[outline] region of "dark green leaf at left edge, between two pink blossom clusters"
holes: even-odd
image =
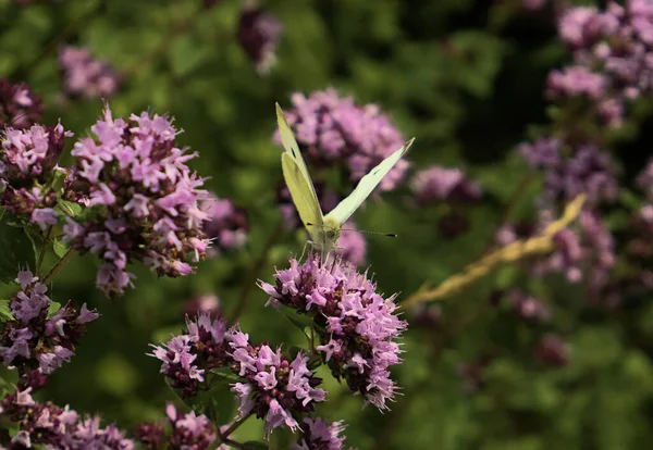
[[[9,214],[0,222],[0,282],[10,284],[22,268],[36,268],[34,242],[24,227],[9,224]]]

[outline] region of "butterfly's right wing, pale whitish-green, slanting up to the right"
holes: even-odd
[[[326,216],[324,222],[329,226],[341,227],[347,218],[354,214],[354,212],[362,204],[362,202],[372,193],[372,190],[381,183],[383,177],[387,175],[392,167],[402,159],[402,157],[408,151],[415,138],[410,139],[401,149],[396,150],[390,157],[381,161],[379,165],[372,168],[366,176],[364,176],[358,186],[354,189],[349,196],[341,201]]]

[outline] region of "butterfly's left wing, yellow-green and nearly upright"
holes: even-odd
[[[324,222],[322,209],[304,158],[301,158],[299,146],[279,103],[276,103],[276,122],[279,123],[281,141],[285,149],[281,155],[283,177],[291,191],[293,203],[295,203],[295,208],[299,213],[299,218],[315,239],[322,229]]]

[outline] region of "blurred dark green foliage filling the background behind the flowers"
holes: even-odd
[[[38,398],[101,414],[124,428],[161,417],[165,402],[175,400],[158,361],[146,353],[150,342],[182,329],[184,303],[214,292],[229,317],[256,277],[271,280],[274,265],[285,267],[291,252],[301,250],[301,232],[282,234],[262,270],[251,273],[281,222],[280,149],[271,140],[275,101],[288,108],[293,92],[335,87],[358,104],[377,103],[404,136],[417,137],[408,155],[414,170],[458,166],[481,185],[483,202],[466,211],[469,229],[454,238],[438,227],[448,207],[412,207],[406,184],[356,214],[361,229],[399,234],[369,237],[368,263],[379,290],[402,292],[401,301],[424,280],[436,284],[456,273],[492,243],[505,204],[528,172],[514,148],[546,124],[546,74],[568,60],[553,17],[510,0],[261,1],[284,26],[268,75],[255,71],[236,39],[244,2],[223,0],[210,9],[200,0],[35,3],[17,8],[0,0],[0,75],[25,80],[44,97],[44,122],[61,118],[78,137],[99,116],[100,99],[64,101],[61,95],[58,46],[88,47],[125,75],[108,99],[114,115],[148,109],[173,115],[185,130],[178,142],[200,154],[192,165],[211,177],[207,186],[219,197],[244,208],[250,224],[244,249],[207,260],[187,278],[158,279],[134,267],[136,289],[112,301],[94,287],[94,258],[74,259],[56,279],[56,301],[88,302],[102,316]],[[637,127],[629,133],[632,148],[645,148],[653,138],[637,140]],[[643,161],[632,153],[615,152],[624,154],[626,176]],[[539,189],[535,182],[520,192],[515,216],[534,215]],[[528,326],[491,305],[493,288],[513,286],[547,302],[553,321]],[[254,341],[303,343],[282,314],[263,308],[262,291],[246,295],[239,322]],[[405,363],[394,372],[403,396],[385,414],[361,410],[360,398],[323,373],[330,400],[318,413],[346,421],[349,446],[617,450],[653,440],[650,296],[615,311],[588,311],[581,289],[562,276],[529,280],[504,267],[448,299],[441,315],[428,326],[411,323]],[[565,367],[533,360],[534,342],[550,330],[570,345]],[[488,355],[489,363],[478,363]],[[460,367],[476,363],[483,383],[469,389]],[[231,393],[221,401],[227,422]],[[250,420],[235,437],[260,438],[260,421]]]

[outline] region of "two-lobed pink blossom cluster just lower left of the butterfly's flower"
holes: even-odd
[[[181,389],[183,397],[195,396],[211,370],[230,368],[239,377],[231,385],[239,402],[238,414],[263,418],[266,435],[279,426],[296,429],[294,414],[309,413],[316,402],[324,400],[324,390],[317,388],[321,379],[301,353],[291,360],[279,348],[254,346],[248,335],[236,327],[226,329],[224,320],[211,321],[208,313],[187,321],[187,329],[152,352],[163,362],[161,372],[169,384]]]

